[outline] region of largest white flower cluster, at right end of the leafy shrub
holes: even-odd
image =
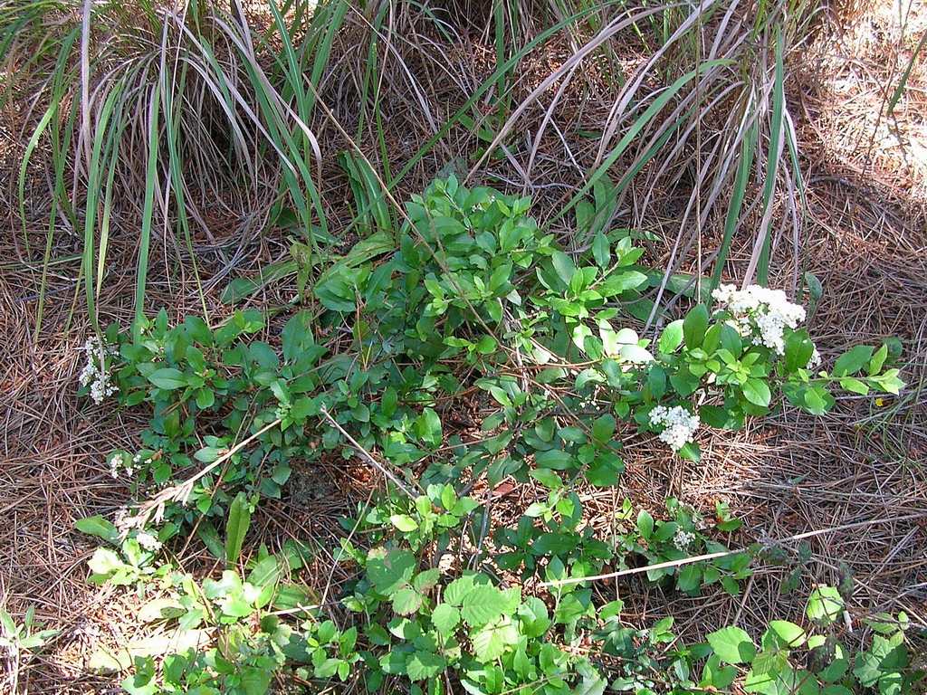
[[[741,335],[753,336],[755,345],[765,345],[780,355],[785,352],[785,327],[797,328],[805,321],[805,308],[793,304],[781,290],[751,284],[743,290],[722,284],[711,296],[730,311]]]

